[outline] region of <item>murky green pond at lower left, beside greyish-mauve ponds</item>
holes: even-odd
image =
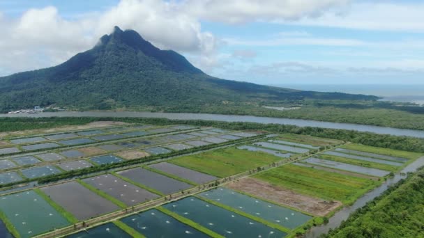
[[[70,223],[34,191],[0,198],[0,210],[21,237],[33,237]]]

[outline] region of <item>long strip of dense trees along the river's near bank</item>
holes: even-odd
[[[212,120],[168,120],[165,118],[0,118],[3,132],[20,129],[49,128],[59,125],[82,125],[87,122],[115,120],[133,123],[148,123],[155,125],[190,124],[198,126],[213,126],[224,129],[263,130],[275,133],[303,134],[324,138],[333,138],[342,141],[351,141],[363,145],[370,145],[395,150],[424,152],[424,139],[408,136],[391,136],[370,132],[356,132],[345,129],[325,129],[318,127],[296,127],[293,125],[261,124],[254,122],[218,122]],[[18,123],[17,123],[18,122]],[[60,123],[60,124],[56,124]],[[4,128],[4,129],[3,129]]]

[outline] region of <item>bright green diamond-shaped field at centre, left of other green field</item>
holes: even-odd
[[[236,148],[225,148],[179,157],[169,161],[172,164],[208,173],[217,177],[227,177],[258,166],[272,164],[282,158],[263,152],[250,152]]]

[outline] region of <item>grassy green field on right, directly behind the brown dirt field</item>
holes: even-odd
[[[253,177],[271,184],[325,200],[353,203],[379,182],[361,177],[330,173],[315,168],[288,164]]]

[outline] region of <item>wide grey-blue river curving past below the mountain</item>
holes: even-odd
[[[321,127],[330,129],[351,129],[358,132],[374,132],[378,134],[391,134],[394,136],[413,136],[424,138],[424,131],[414,129],[398,129],[392,127],[378,127],[372,125],[357,125],[339,122],[321,122],[317,120],[302,120],[289,118],[266,118],[259,116],[239,116],[207,113],[151,113],[134,111],[61,111],[53,113],[36,114],[0,114],[0,117],[130,117],[130,118],[168,118],[176,120],[220,120],[225,122],[257,122],[275,123],[282,125],[296,125],[298,127]]]

